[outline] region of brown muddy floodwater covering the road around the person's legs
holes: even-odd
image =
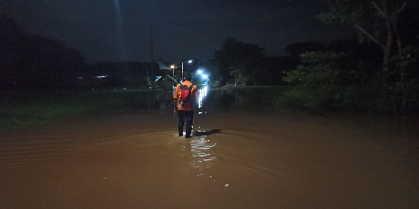
[[[415,125],[170,102],[2,138],[0,208],[418,208]]]

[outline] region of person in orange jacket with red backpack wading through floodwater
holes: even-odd
[[[190,73],[185,72],[183,75],[184,81],[176,86],[175,93],[173,94],[173,98],[177,100],[179,136],[183,136],[183,125],[186,122],[185,138],[189,138],[192,132],[194,106],[198,98],[198,89],[197,86],[190,82],[191,77]]]

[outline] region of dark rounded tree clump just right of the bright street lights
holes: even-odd
[[[221,85],[278,85],[282,77],[296,65],[293,57],[267,57],[264,49],[229,38],[215,51],[214,67]]]

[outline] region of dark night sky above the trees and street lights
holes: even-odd
[[[226,38],[286,55],[287,44],[329,42],[350,30],[315,18],[318,0],[0,0],[0,13],[29,33],[57,40],[96,61],[211,59]]]

